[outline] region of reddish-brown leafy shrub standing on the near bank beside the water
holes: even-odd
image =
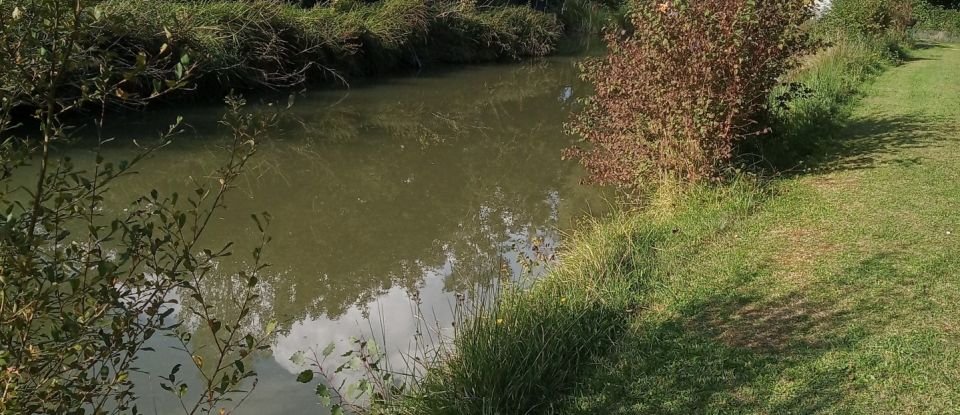
[[[637,187],[716,177],[741,138],[763,133],[771,90],[807,48],[805,0],[638,1],[630,34],[587,61],[596,88],[571,125],[592,179]]]

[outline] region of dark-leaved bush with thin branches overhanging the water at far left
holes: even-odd
[[[252,387],[255,373],[245,362],[269,340],[248,328],[262,245],[238,276],[245,287],[239,317],[227,318],[205,301],[205,281],[229,245],[207,248],[201,236],[273,120],[229,100],[223,123],[234,140],[209,182],[196,182],[182,198],[151,191],[122,213],[105,209],[111,184],[180,129],[178,120],[130,161],[107,161],[99,153],[108,141],[99,136],[107,105],[140,105],[183,88],[195,64],[173,53],[172,43],[98,48],[108,43],[98,5],[0,2],[0,413],[139,413],[132,372],[160,335],[175,338],[184,361],[203,373],[202,380],[177,379],[176,365],[157,374],[160,386],[185,413],[217,413],[233,391]],[[128,92],[137,79],[156,87],[149,95]],[[33,111],[24,115],[23,107]],[[82,165],[54,150],[73,141],[81,126],[69,121],[80,107],[100,114],[83,125],[98,141],[95,160]],[[175,297],[189,301],[179,315]],[[177,318],[203,323],[197,333],[213,339],[206,366]]]

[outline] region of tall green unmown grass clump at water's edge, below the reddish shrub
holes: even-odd
[[[623,216],[583,232],[563,265],[529,290],[502,289],[463,321],[448,355],[385,412],[550,413],[626,329],[651,247],[663,233],[635,232]]]

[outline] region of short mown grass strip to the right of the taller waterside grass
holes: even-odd
[[[659,209],[639,309],[558,413],[960,411],[960,46],[865,96],[791,177]]]

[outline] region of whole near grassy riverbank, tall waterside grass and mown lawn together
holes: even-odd
[[[920,45],[880,75],[878,46],[835,45],[798,75],[812,95],[779,124],[802,163],[595,224],[387,410],[948,409],[960,49]]]

